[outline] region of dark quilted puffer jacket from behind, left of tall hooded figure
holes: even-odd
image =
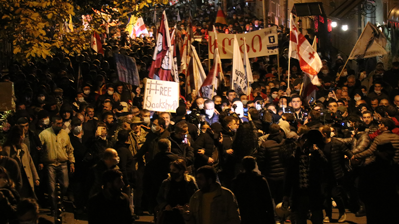
[[[281,159],[284,142],[284,134],[279,132],[270,134],[259,147],[256,159],[260,172],[267,179],[275,181],[284,179],[284,166]]]

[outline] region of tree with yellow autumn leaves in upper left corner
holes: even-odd
[[[22,64],[33,58],[45,59],[58,52],[80,54],[90,47],[91,34],[105,33],[108,23],[124,25],[128,15],[138,13],[137,9],[168,2],[0,0],[0,39],[12,42],[14,60]],[[86,27],[83,20],[88,23]]]

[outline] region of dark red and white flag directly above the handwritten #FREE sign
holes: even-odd
[[[177,70],[173,59],[174,47],[171,46],[168,20],[165,11],[157,36],[157,46],[154,50],[153,63],[151,64],[149,78],[162,81],[179,82]]]

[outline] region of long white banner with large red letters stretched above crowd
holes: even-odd
[[[221,59],[233,58],[233,40],[237,36],[241,57],[244,54],[244,38],[249,58],[278,54],[277,27],[268,27],[244,34],[217,33],[217,46]],[[214,32],[209,32],[209,59],[213,59]]]

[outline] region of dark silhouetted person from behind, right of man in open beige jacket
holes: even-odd
[[[241,224],[265,224],[274,222],[274,207],[266,178],[256,171],[255,158],[242,159],[243,173],[232,181],[234,193],[240,209]]]

